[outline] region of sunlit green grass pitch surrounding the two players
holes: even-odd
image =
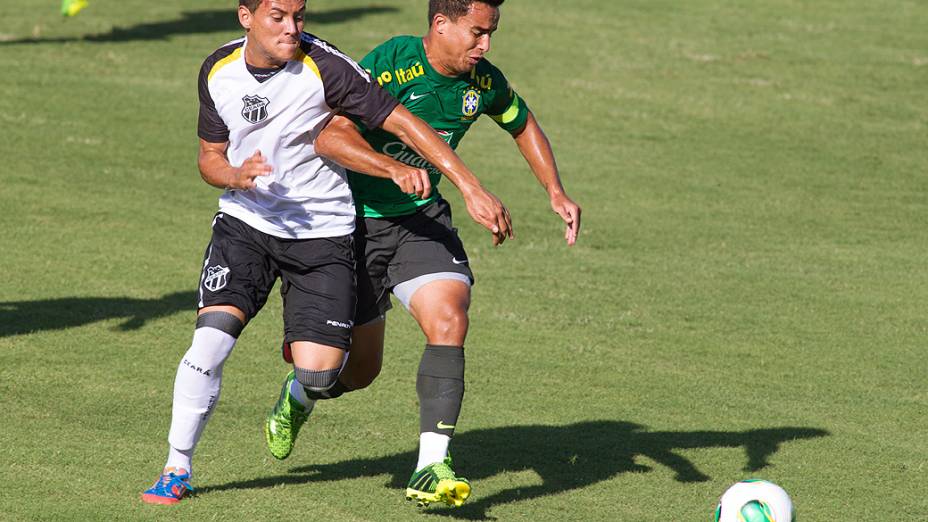
[[[47,4],[47,5],[46,5]],[[510,0],[491,60],[583,206],[563,245],[517,149],[459,149],[510,207],[478,277],[455,438],[464,507],[402,498],[423,340],[390,314],[368,390],[281,463],[260,426],[280,299],[242,335],[200,494],[143,505],[219,192],[196,77],[226,0],[0,0],[0,519],[702,521],[740,479],[800,520],[928,520],[928,7],[922,1]],[[360,58],[423,0],[310,2]]]

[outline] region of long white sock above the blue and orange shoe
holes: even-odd
[[[174,379],[174,405],[171,412],[171,431],[168,443],[173,451],[166,466],[173,459],[193,456],[203,428],[219,401],[222,384],[222,365],[232,353],[235,337],[215,328],[202,327],[193,332],[193,342],[177,367]],[[189,452],[189,455],[185,455]],[[177,456],[177,455],[180,456]],[[182,466],[183,467],[183,466]]]

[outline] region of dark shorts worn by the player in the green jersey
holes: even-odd
[[[355,229],[358,258],[358,312],[364,324],[391,308],[396,285],[427,274],[455,272],[474,282],[467,252],[451,225],[451,205],[440,199],[415,214],[389,218],[358,218]]]

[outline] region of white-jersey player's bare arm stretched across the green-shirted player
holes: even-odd
[[[427,123],[398,105],[384,121],[383,128],[412,147],[461,191],[467,212],[474,221],[493,233],[494,245],[513,237],[509,210],[499,198],[483,188],[474,173]]]

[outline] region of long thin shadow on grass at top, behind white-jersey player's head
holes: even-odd
[[[347,7],[315,12],[310,10],[306,17],[306,30],[312,32],[314,25],[334,24],[361,18],[372,14],[392,13],[395,7],[369,6]],[[165,40],[168,37],[184,34],[241,32],[235,9],[223,8],[202,11],[185,11],[176,20],[165,20],[133,25],[131,27],[114,27],[108,33],[72,37],[20,38],[0,41],[0,45],[66,43],[66,42],[130,42],[145,40]],[[86,16],[91,16],[88,13]]]

